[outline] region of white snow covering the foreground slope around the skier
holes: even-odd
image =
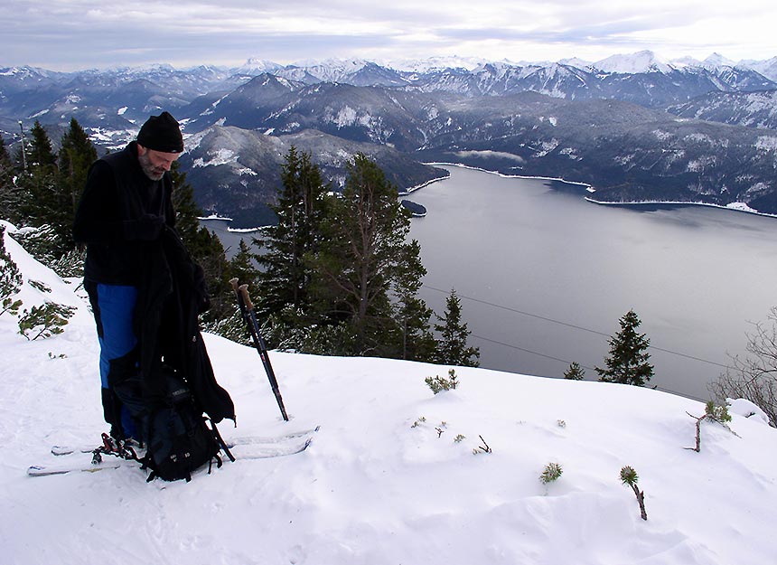
[[[424,380],[448,367],[271,352],[286,423],[256,351],[215,335],[206,344],[239,421],[222,434],[320,425],[304,453],[226,463],[189,484],[146,484],[134,467],[28,477],[27,466],[54,458],[52,445],[97,443],[105,430],[98,349],[78,281],[7,235],[5,246],[23,272],[23,307],[78,306],[45,340],[27,341],[0,316],[6,565],[775,560],[777,430],[744,400],[732,401],[730,429],[702,422],[696,453],[685,448],[695,443],[688,413],[703,405],[660,391],[456,368],[458,388],[435,395]],[[549,463],[563,475],[543,485]],[[646,522],[623,466],[639,475]]]

